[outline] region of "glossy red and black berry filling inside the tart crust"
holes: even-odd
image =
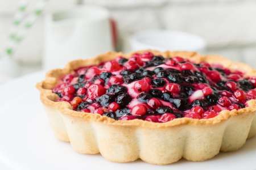
[[[146,52],[77,69],[52,91],[57,101],[69,102],[75,111],[167,122],[245,108],[246,101],[256,98],[255,87],[256,78],[241,71]]]

